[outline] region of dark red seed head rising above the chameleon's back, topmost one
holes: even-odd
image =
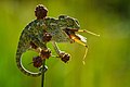
[[[37,20],[44,18],[47,16],[47,13],[48,13],[48,9],[42,4],[36,7],[35,15],[37,16]]]

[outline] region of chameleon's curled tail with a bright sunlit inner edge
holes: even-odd
[[[27,76],[32,76],[32,77],[37,77],[37,76],[40,76],[41,75],[41,72],[38,72],[38,73],[34,73],[34,72],[29,72],[27,71],[23,64],[22,64],[22,54],[23,52],[21,52],[18,49],[16,51],[16,64],[17,64],[17,67],[21,70],[21,72],[23,72],[25,75]]]

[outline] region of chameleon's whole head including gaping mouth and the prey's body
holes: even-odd
[[[57,25],[62,30],[64,30],[66,36],[68,36],[69,39],[73,40],[70,42],[76,41],[87,47],[86,37],[76,34],[76,32],[79,32],[80,28],[80,25],[76,18],[69,17],[67,15],[60,15]]]

